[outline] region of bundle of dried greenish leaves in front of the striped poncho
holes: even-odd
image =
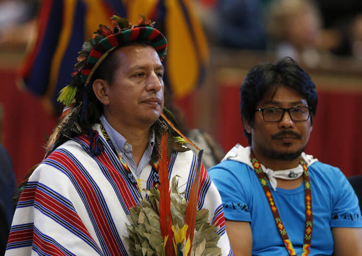
[[[142,206],[131,208],[130,216],[128,216],[128,220],[132,224],[126,225],[129,237],[125,238],[125,240],[129,245],[129,254],[131,256],[164,256],[163,239],[160,232],[158,215],[159,192],[154,188],[145,191],[150,201],[143,200]],[[178,191],[178,177],[173,177],[170,208],[173,225],[177,232],[180,231],[179,227],[184,226],[185,223],[187,203],[183,194],[184,191],[181,193]],[[194,249],[192,249],[191,253],[200,253],[201,248],[204,248],[200,256],[220,256],[221,249],[217,247],[219,236],[216,234],[218,229],[215,225],[210,224],[208,219],[209,210],[201,209],[196,212],[195,230],[192,241],[192,248]],[[175,237],[172,238],[172,240],[174,239]],[[200,245],[201,243],[202,245]],[[205,243],[205,246],[203,246],[203,243]],[[182,243],[177,245],[177,248],[183,255],[186,255],[185,252],[190,248],[190,241],[184,239]],[[191,255],[196,256],[199,254]]]

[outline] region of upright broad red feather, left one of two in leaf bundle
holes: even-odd
[[[158,212],[160,215],[160,230],[163,239],[169,235],[165,246],[166,255],[175,255],[172,238],[174,237],[172,231],[172,216],[171,216],[171,191],[169,181],[169,169],[167,164],[167,135],[161,137],[161,145],[158,156],[158,176],[160,185],[158,190],[160,192]]]

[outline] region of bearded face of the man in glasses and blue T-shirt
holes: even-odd
[[[264,107],[308,106],[307,100],[293,88],[280,86],[274,96],[275,87],[269,88],[257,104]],[[255,112],[254,127],[245,126],[252,133],[253,151],[268,159],[293,160],[307,146],[312,131],[311,118],[307,121],[291,120],[288,112],[280,122],[265,122],[261,111]]]

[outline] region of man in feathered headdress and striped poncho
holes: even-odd
[[[143,189],[160,186],[159,155],[186,200],[192,192],[198,159],[163,111],[166,39],[144,17],[112,19],[114,29],[100,25],[83,44],[61,91],[71,107],[22,188],[6,255],[129,255],[127,215],[147,198]],[[220,196],[202,165],[199,173],[197,207],[209,210],[217,245],[231,255]]]

